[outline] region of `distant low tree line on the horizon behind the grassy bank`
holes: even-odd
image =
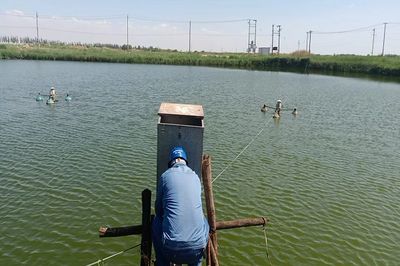
[[[132,46],[132,45],[119,45],[111,43],[83,43],[83,42],[62,42],[62,41],[51,41],[46,39],[39,39],[31,37],[18,37],[18,36],[0,36],[0,43],[13,43],[13,44],[42,44],[42,45],[52,45],[52,46],[79,46],[79,47],[99,47],[99,48],[111,48],[111,49],[122,49],[122,50],[143,50],[150,52],[159,51],[170,51],[177,52],[176,49],[160,49],[157,47],[149,46]]]

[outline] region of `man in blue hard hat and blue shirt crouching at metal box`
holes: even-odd
[[[152,226],[156,265],[201,265],[210,229],[203,214],[200,178],[187,166],[183,147],[171,150],[168,166],[158,181]]]

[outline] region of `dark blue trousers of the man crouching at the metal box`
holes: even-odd
[[[169,266],[171,262],[175,264],[188,264],[189,266],[201,266],[204,249],[185,248],[172,250],[164,246],[162,220],[157,218],[157,216],[153,220],[151,235],[156,252],[157,266]]]

